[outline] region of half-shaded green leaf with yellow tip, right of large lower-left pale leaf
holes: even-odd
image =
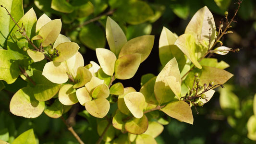
[[[53,104],[46,107],[44,112],[50,118],[54,118],[54,119],[60,118],[63,113],[63,105],[58,99],[56,99]]]

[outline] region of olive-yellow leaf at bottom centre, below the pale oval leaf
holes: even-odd
[[[133,118],[128,120],[124,125],[125,130],[132,134],[142,134],[146,132],[147,127],[148,121],[145,115],[143,115],[143,117],[140,119]]]

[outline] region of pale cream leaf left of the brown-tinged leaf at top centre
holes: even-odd
[[[96,55],[103,72],[112,76],[115,70],[115,54],[109,49],[96,48]]]

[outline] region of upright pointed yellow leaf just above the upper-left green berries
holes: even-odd
[[[40,40],[40,42],[42,42],[42,46],[47,47],[49,46],[49,44],[53,44],[59,36],[60,32],[61,19],[52,20],[49,23],[42,26],[38,33],[39,36],[43,37],[43,39]]]

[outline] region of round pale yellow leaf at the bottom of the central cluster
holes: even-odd
[[[110,110],[110,103],[105,98],[97,98],[86,102],[85,109],[96,118],[104,118]]]

